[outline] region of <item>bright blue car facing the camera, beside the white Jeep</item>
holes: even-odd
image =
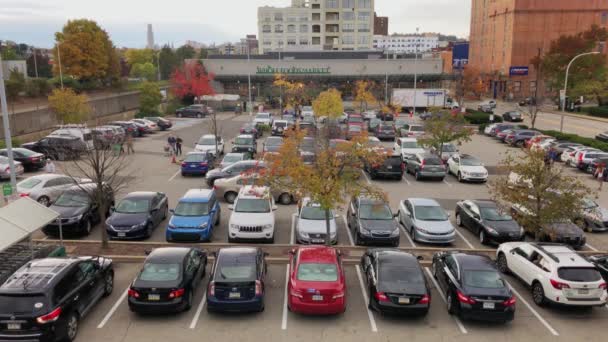
[[[192,189],[171,213],[166,231],[168,242],[211,241],[213,229],[220,224],[221,208],[214,190]]]

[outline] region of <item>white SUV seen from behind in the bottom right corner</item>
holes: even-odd
[[[496,251],[498,269],[511,272],[532,289],[541,306],[604,306],[606,282],[595,266],[560,244],[507,242]]]

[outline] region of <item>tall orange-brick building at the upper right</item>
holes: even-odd
[[[593,24],[607,27],[608,0],[473,0],[469,65],[486,75],[494,97],[534,96],[531,60],[561,35]],[[538,86],[541,94],[556,91]]]

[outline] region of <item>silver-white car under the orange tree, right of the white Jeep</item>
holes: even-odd
[[[310,198],[304,198],[296,213],[296,242],[300,244],[324,244],[327,237],[325,210]],[[329,211],[329,239],[332,245],[338,243],[336,216]]]

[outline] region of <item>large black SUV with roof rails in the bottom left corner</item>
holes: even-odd
[[[0,340],[73,341],[80,320],[113,288],[108,258],[30,261],[0,287]]]

